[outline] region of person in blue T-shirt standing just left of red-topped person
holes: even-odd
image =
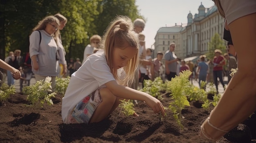
[[[201,81],[206,82],[206,77],[207,77],[207,74],[209,73],[209,66],[205,62],[206,55],[200,55],[199,58],[201,60],[201,62],[198,63],[199,87],[205,89],[205,86],[201,87]]]

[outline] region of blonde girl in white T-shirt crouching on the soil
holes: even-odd
[[[130,18],[118,16],[108,26],[101,49],[72,74],[62,100],[64,123],[93,123],[108,117],[122,99],[145,101],[164,116],[162,103],[127,87],[139,63],[139,40]]]

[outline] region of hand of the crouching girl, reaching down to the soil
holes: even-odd
[[[151,107],[154,111],[154,113],[162,113],[162,116],[164,117],[164,106],[162,103],[156,99],[155,97],[149,95],[149,98],[147,101],[145,101],[149,107]]]

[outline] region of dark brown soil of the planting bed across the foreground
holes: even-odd
[[[44,105],[39,112],[27,104],[26,95],[11,95],[0,104],[0,143],[210,143],[199,138],[199,129],[210,110],[187,106],[182,110],[184,129],[180,130],[170,110],[159,122],[146,103],[135,104],[139,117],[119,115],[117,108],[107,119],[92,124],[64,124],[61,118],[61,95],[54,105]],[[167,95],[161,100],[170,103]],[[222,137],[218,143],[235,143]],[[252,141],[252,143],[255,143]]]

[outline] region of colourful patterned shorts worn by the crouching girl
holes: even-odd
[[[95,109],[101,103],[100,89],[81,100],[70,112],[68,123],[89,123]]]

